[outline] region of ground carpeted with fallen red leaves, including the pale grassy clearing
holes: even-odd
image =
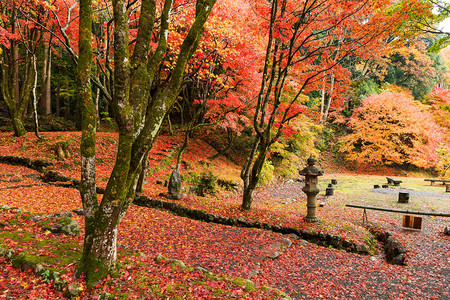
[[[19,139],[13,138],[10,133],[0,133],[0,155],[56,161],[52,147],[62,139],[72,149],[72,156],[57,162],[55,169],[66,176],[79,178],[79,156],[76,152],[79,133],[45,133],[45,136],[46,140],[39,142],[31,134]],[[99,137],[97,175],[100,186],[106,184],[111,170],[116,139],[114,134],[101,134]],[[150,155],[154,173],[146,178],[148,184],[144,193],[147,196],[163,199],[158,194],[165,188],[156,181],[167,179],[170,166],[174,164],[170,159],[171,151],[180,142],[181,138],[164,137],[158,140]],[[207,162],[214,153],[208,145],[194,141],[183,158],[186,161],[183,173],[202,172],[202,164],[198,161]],[[223,158],[214,161],[212,168],[221,178],[238,179],[239,169]],[[24,167],[0,164],[0,204],[44,214],[81,208],[77,190],[44,184],[37,175],[38,172]],[[428,193],[425,196],[411,196],[407,205],[397,203],[395,188],[390,188],[392,193],[389,194],[373,190],[374,184],[385,184],[385,177],[328,174],[320,178],[322,190],[331,178],[337,179],[338,185],[333,197],[319,195],[319,201],[325,203],[325,206],[318,207],[318,215],[323,219],[321,224],[309,225],[302,221],[306,212],[305,196],[301,192],[301,184],[294,181],[259,189],[250,212],[239,209],[239,195],[223,191],[215,197],[188,194],[178,203],[217,215],[310,228],[354,241],[363,241],[370,234],[362,226],[362,211],[346,208],[346,203],[444,213],[450,210],[450,198],[444,193],[444,188],[429,186],[423,178],[401,178],[401,187]],[[2,215],[2,218],[7,217],[6,213]],[[148,299],[158,299],[164,295],[181,298],[182,294],[197,299],[271,297],[261,289],[252,292],[250,288],[245,289],[226,280],[195,278],[201,275],[195,270],[172,270],[170,265],[155,264],[153,258],[162,253],[165,257],[180,259],[188,266],[202,267],[220,276],[248,278],[257,287],[267,285],[278,288],[296,299],[449,299],[450,239],[442,232],[445,226],[450,225],[448,218],[424,217],[423,229],[410,231],[401,228],[401,217],[397,213],[368,211],[368,219],[373,226],[391,231],[409,250],[407,266],[386,263],[381,246],[372,256],[347,253],[292,238],[292,245],[285,247],[285,237],[279,233],[205,223],[160,210],[132,206],[121,224],[118,242],[126,251],[139,251],[143,256],[122,256],[122,265],[125,266],[122,276],[109,279],[109,283],[105,282],[92,293],[101,290],[114,292],[116,289],[120,293],[129,292],[129,298],[141,296]],[[81,217],[74,218],[82,224]],[[81,238],[77,242],[81,245]],[[279,250],[281,255],[273,259],[270,256],[275,250]],[[0,294],[3,297],[13,295],[14,298],[13,293],[23,289],[28,291],[24,295],[30,295],[30,298],[55,298],[57,292],[41,278],[11,268],[5,259],[0,261],[0,267],[3,282],[3,285],[0,283]],[[71,268],[73,266],[69,270]],[[149,291],[150,286],[154,288],[153,292]],[[91,296],[89,293],[85,291],[83,295]]]

